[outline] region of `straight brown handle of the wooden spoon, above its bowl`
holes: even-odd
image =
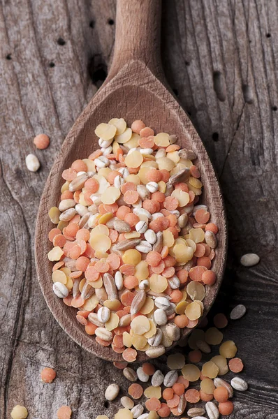
[[[117,0],[116,38],[109,78],[128,61],[161,74],[161,0]]]

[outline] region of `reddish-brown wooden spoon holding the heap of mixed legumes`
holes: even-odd
[[[52,263],[47,260],[51,249],[48,232],[53,227],[47,212],[59,203],[62,184],[61,173],[75,159],[85,159],[98,142],[94,129],[101,122],[123,117],[131,125],[142,119],[157,132],[175,133],[178,144],[193,149],[198,156],[197,164],[203,180],[203,203],[208,205],[212,221],[219,226],[219,244],[213,269],[217,282],[207,287],[203,316],[214,302],[224,273],[227,250],[226,217],[224,203],[205,147],[189,117],[173,97],[163,76],[160,59],[160,0],[118,0],[115,52],[107,80],[89,102],[68,133],[61,152],[47,179],[36,225],[36,267],[38,281],[45,301],[61,328],[82,348],[100,358],[122,361],[122,354],[96,343],[87,335],[84,326],[76,321],[76,309],[67,307],[52,291]],[[191,329],[185,328],[186,337]],[[146,360],[144,352],[138,352],[138,361]]]

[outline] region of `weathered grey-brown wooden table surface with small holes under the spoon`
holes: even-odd
[[[115,1],[3,0],[0,10],[0,418],[15,404],[31,419],[56,418],[61,404],[73,419],[113,418],[119,401],[106,408],[104,390],[117,382],[124,394],[129,384],[52,318],[36,279],[34,228],[54,158],[107,74]],[[278,418],[277,15],[277,0],[163,1],[164,70],[207,147],[228,213],[226,276],[212,311],[247,307],[224,331],[249,383],[233,419]],[[41,132],[51,145],[35,151],[41,170],[32,173],[24,159]],[[261,263],[244,268],[249,251]],[[57,370],[51,385],[41,382],[43,366]]]

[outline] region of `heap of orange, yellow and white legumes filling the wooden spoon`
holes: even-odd
[[[53,291],[98,344],[128,362],[156,358],[203,314],[218,228],[176,135],[122,118],[95,133],[100,148],[64,170],[49,212]]]

